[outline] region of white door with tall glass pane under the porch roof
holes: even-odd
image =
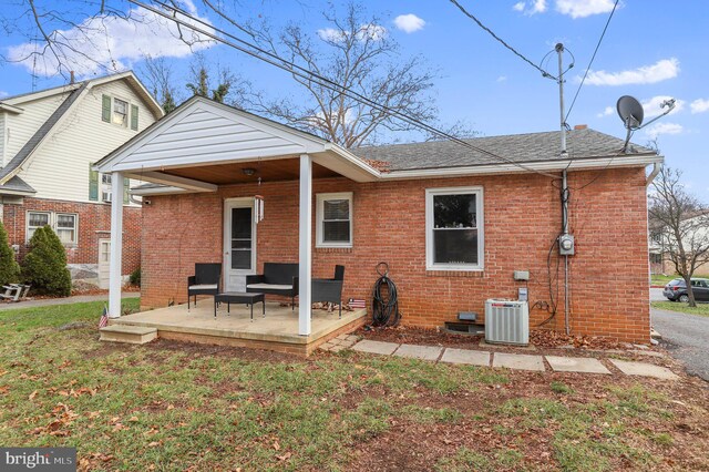
[[[224,202],[224,289],[246,291],[246,276],[256,274],[254,198]]]

